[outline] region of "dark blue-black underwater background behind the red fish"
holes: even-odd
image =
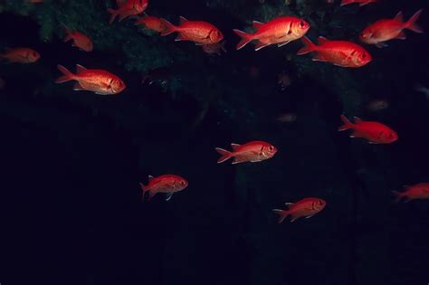
[[[183,15],[215,24],[220,55],[134,19],[109,24],[111,7],[0,1],[0,52],[41,54],[0,62],[2,285],[428,284],[429,201],[395,203],[391,192],[429,181],[427,0],[149,0],[146,13],[171,23]],[[359,43],[368,24],[421,8],[424,33],[406,31],[383,49]],[[352,41],[373,61],[312,62],[296,55],[300,40],[235,51],[233,29],[281,15],[308,21],[313,42]],[[93,51],[63,43],[62,24],[88,34]],[[55,84],[57,64],[74,72],[77,63],[127,88],[102,96]],[[338,132],[341,114],[383,122],[399,138],[349,138]],[[216,164],[215,147],[253,140],[277,154]],[[138,184],[164,174],[189,185],[170,201],[142,202]],[[305,197],[327,205],[277,223],[272,209]]]

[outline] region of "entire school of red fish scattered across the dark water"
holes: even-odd
[[[27,0],[29,3],[43,3],[43,0]],[[333,1],[327,0],[329,4]],[[342,0],[341,6],[358,4],[368,5],[377,3],[377,0]],[[190,21],[185,17],[179,17],[179,24],[171,24],[166,19],[153,15],[143,14],[148,9],[148,0],[117,0],[117,9],[108,9],[110,14],[109,23],[112,24],[118,17],[119,22],[126,18],[136,20],[135,24],[142,26],[144,29],[159,33],[161,36],[167,36],[171,33],[177,33],[176,41],[187,41],[195,43],[202,47],[203,51],[208,54],[221,54],[226,52],[224,48],[224,34],[214,25],[204,21]],[[46,4],[48,5],[48,4]],[[415,33],[423,33],[416,21],[422,9],[415,12],[407,21],[404,22],[402,12],[396,14],[392,19],[380,19],[374,24],[370,24],[359,34],[359,40],[366,44],[375,44],[378,48],[386,47],[386,42],[393,39],[405,40],[405,30]],[[80,31],[69,29],[63,24],[65,37],[64,42],[71,41],[71,45],[79,48],[83,52],[92,52],[93,43],[91,38]],[[319,36],[318,43],[315,44],[305,36],[310,30],[309,22],[294,16],[280,16],[261,23],[253,21],[253,33],[245,33],[241,30],[234,29],[240,37],[236,50],[242,49],[248,43],[254,43],[254,50],[259,51],[264,47],[276,44],[281,47],[292,41],[300,40],[303,47],[297,52],[297,55],[313,53],[312,61],[329,62],[344,68],[361,68],[373,60],[371,54],[358,43],[349,41],[328,40]],[[41,55],[31,48],[17,47],[6,49],[0,54],[0,60],[15,63],[33,63],[40,60]],[[87,90],[100,95],[119,94],[126,89],[126,84],[116,75],[109,71],[86,69],[83,66],[76,65],[76,73],[67,70],[61,64],[58,69],[62,76],[56,83],[66,81],[75,81],[73,90]],[[279,81],[282,86],[291,83],[287,74],[281,74]],[[367,109],[380,110],[386,109],[388,102],[386,100],[373,100]],[[281,122],[293,122],[296,119],[295,114],[285,113],[277,117]],[[395,130],[376,121],[365,121],[354,118],[354,123],[350,122],[346,116],[340,118],[344,125],[338,128],[339,131],[350,129],[353,132],[350,138],[365,138],[370,144],[391,144],[398,139]],[[245,162],[261,162],[270,159],[277,153],[277,148],[272,144],[264,141],[251,141],[243,145],[231,144],[232,150],[225,150],[216,147],[215,150],[221,157],[217,163],[222,163],[229,158],[233,158],[232,164]],[[184,190],[188,182],[184,177],[176,175],[149,176],[148,185],[140,183],[142,191],[142,200],[148,193],[148,199],[151,199],[157,193],[167,195],[167,200],[179,191]],[[414,199],[429,199],[429,183],[418,183],[416,185],[405,186],[405,192],[393,191],[396,195],[396,202],[405,199],[406,202]],[[286,203],[289,206],[287,210],[273,209],[272,211],[279,214],[279,223],[286,217],[291,216],[291,222],[300,217],[310,218],[322,211],[327,202],[317,197],[303,198],[296,203]]]

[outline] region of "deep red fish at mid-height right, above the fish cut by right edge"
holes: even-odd
[[[355,117],[352,124],[344,115],[341,115],[344,125],[338,130],[353,129],[350,138],[367,138],[370,144],[390,144],[397,140],[396,131],[378,122],[365,121]]]

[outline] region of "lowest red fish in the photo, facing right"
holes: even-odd
[[[289,205],[289,210],[273,209],[272,212],[279,214],[279,223],[291,215],[291,222],[296,221],[300,217],[309,219],[315,214],[318,214],[326,206],[326,201],[319,198],[304,198],[297,203],[285,203]]]

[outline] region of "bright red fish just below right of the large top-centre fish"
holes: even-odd
[[[363,47],[356,43],[346,41],[329,41],[328,39],[319,36],[319,45],[311,43],[304,37],[302,43],[304,47],[298,51],[298,55],[309,52],[316,52],[313,57],[315,62],[331,62],[341,67],[358,68],[372,61],[372,56]]]

